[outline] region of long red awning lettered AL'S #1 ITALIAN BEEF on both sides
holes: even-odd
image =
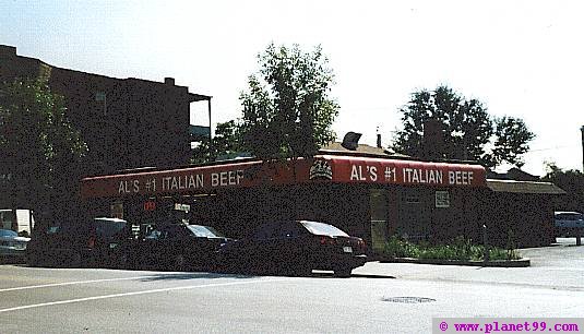
[[[309,182],[485,187],[479,165],[320,155],[276,163],[242,162],[85,178],[84,199],[204,193],[216,189]]]

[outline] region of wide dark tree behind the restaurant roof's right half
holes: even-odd
[[[508,162],[521,167],[521,155],[534,138],[523,120],[492,118],[478,99],[466,99],[448,86],[413,93],[400,112],[403,129],[392,148],[421,158],[477,160],[487,167]],[[425,141],[425,130],[430,132],[425,126],[430,124],[439,135]]]

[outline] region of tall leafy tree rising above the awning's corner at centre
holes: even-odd
[[[320,47],[267,46],[260,70],[249,76],[240,100],[242,147],[260,158],[312,156],[335,139],[338,105],[329,97],[333,72]]]

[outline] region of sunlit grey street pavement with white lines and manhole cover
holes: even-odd
[[[584,247],[532,267],[370,262],[350,278],[0,266],[2,333],[430,333],[432,318],[582,317]]]

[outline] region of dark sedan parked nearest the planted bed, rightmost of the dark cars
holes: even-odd
[[[365,241],[335,226],[309,220],[269,223],[219,250],[228,271],[309,275],[312,270],[350,276],[367,261]]]

